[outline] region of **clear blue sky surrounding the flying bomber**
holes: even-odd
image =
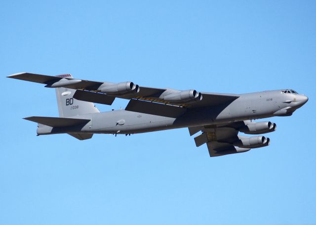
[[[0,2],[1,225],[315,225],[315,1]],[[310,97],[271,145],[209,158],[187,129],[36,136],[54,90],[5,78]],[[126,100],[102,111],[124,108]]]

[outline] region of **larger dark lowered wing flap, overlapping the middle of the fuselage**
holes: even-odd
[[[125,110],[171,118],[177,118],[186,111],[185,108],[179,106],[166,105],[136,99],[131,99],[128,102],[128,105],[126,106]]]

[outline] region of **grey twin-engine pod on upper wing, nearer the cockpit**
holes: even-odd
[[[196,90],[187,90],[187,91],[175,91],[167,90],[159,97],[168,102],[175,103],[190,103],[195,101],[202,100],[202,94]]]

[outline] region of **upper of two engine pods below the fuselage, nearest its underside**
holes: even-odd
[[[239,131],[247,134],[262,134],[276,130],[276,124],[269,121],[251,122],[239,129]]]

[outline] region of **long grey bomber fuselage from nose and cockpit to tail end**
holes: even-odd
[[[242,94],[233,102],[212,107],[188,109],[177,118],[126,110],[90,113],[72,118],[91,119],[84,126],[52,128],[39,125],[37,133],[113,133],[132,134],[165,129],[196,127],[273,116],[290,116],[306,103],[307,96],[282,90]]]

